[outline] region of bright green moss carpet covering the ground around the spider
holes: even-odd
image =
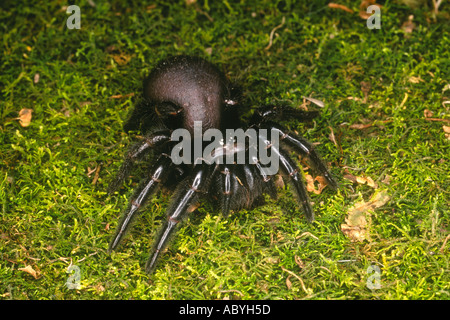
[[[448,6],[435,16],[388,1],[381,29],[370,30],[325,1],[97,2],[80,3],[80,30],[66,27],[59,1],[0,8],[2,299],[449,299]],[[313,224],[289,190],[228,219],[205,205],[148,277],[169,195],[109,256],[139,172],[119,193],[105,190],[132,141],[121,127],[143,77],[181,53],[219,64],[251,105],[324,101],[321,117],[289,126],[320,143],[341,188],[311,195]],[[22,108],[33,109],[28,127]],[[391,200],[371,211],[370,238],[350,241],[341,231],[349,208],[380,188]],[[66,286],[69,265],[81,289]],[[367,286],[370,266],[379,289]]]

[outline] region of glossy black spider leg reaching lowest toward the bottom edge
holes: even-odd
[[[208,175],[212,166],[200,165],[194,168],[193,173],[185,180],[184,184],[178,188],[175,196],[171,200],[171,205],[167,211],[168,219],[161,228],[161,233],[157,237],[155,246],[152,249],[146,264],[146,271],[152,273],[160,253],[166,247],[170,236],[173,234],[177,224],[193,211],[193,206],[199,200],[199,192],[204,189],[208,181]]]

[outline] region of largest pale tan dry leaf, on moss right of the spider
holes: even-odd
[[[355,203],[348,210],[347,218],[341,225],[341,231],[351,240],[362,242],[369,238],[368,229],[370,226],[370,211],[375,210],[389,201],[390,197],[386,190],[376,192],[372,198],[365,202]]]

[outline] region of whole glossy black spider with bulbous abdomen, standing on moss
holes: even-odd
[[[318,112],[265,105],[255,109],[249,121],[246,121],[247,124],[243,125],[241,118],[244,107],[238,101],[238,90],[214,65],[189,56],[176,56],[160,62],[144,81],[143,89],[142,101],[137,104],[124,126],[125,131],[140,130],[143,136],[141,142],[128,152],[117,177],[110,184],[109,192],[116,190],[128,176],[134,162],[143,159],[150,151],[153,151],[154,162],[125,211],[109,252],[117,248],[139,208],[160,186],[175,187],[167,210],[168,219],[161,228],[146,264],[148,273],[154,270],[156,261],[169,237],[175,232],[177,224],[195,210],[202,198],[214,201],[227,216],[230,211],[260,205],[264,194],[276,197],[277,191],[271,179],[273,172],[267,174],[267,163],[259,161],[260,158],[255,156],[258,153],[251,153],[262,150],[258,142],[263,141],[264,149],[276,156],[277,166],[285,177],[289,177],[293,192],[309,222],[313,221],[314,213],[302,173],[285,148],[306,156],[325,177],[328,185],[333,189],[337,188],[337,183],[313,146],[275,122],[310,120]],[[201,126],[196,127],[198,124]],[[201,133],[208,129],[219,129],[224,134],[226,129],[254,129],[258,137],[256,140],[255,137],[253,140],[247,137],[246,144],[236,140],[219,141],[219,148],[207,154],[211,156],[209,162],[204,155],[198,157],[194,152],[194,156],[189,157],[192,150],[183,150],[180,154],[191,159],[191,163],[175,163],[173,151],[178,141],[174,141],[172,133],[176,129],[185,129],[184,133],[195,136],[199,128]],[[270,137],[263,135],[264,130],[261,129],[270,130]],[[278,138],[280,146],[273,143],[274,138]],[[195,144],[194,139],[190,141],[193,142],[191,146]],[[205,142],[202,143],[202,150],[206,150]],[[242,154],[245,155],[245,160],[238,162],[237,157]],[[230,157],[232,162],[216,161]]]

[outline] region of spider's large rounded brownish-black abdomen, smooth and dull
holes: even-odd
[[[227,90],[227,79],[214,65],[189,56],[162,61],[144,81],[144,97],[156,106],[170,103],[178,108],[191,134],[195,121],[202,122],[203,131],[220,128]]]

